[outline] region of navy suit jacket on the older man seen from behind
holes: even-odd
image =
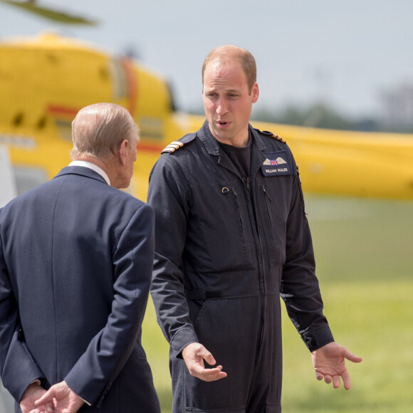
[[[92,404],[80,412],[160,411],[141,345],[154,220],[85,167],[1,209],[0,367],[17,401],[41,378],[66,380]]]

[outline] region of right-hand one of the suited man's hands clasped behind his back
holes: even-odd
[[[53,402],[53,412],[56,413],[76,413],[84,403],[64,381],[53,385],[35,404],[41,406],[49,402]]]

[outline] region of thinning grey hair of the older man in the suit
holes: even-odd
[[[88,155],[103,159],[114,154],[125,139],[139,142],[138,133],[132,116],[122,106],[115,103],[85,106],[72,122],[70,157]]]

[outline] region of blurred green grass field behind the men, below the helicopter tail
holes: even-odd
[[[318,382],[284,311],[283,412],[412,412],[413,202],[305,199],[325,315],[335,340],[364,360],[348,365],[348,392]],[[151,302],[143,341],[162,413],[170,412],[168,346]]]

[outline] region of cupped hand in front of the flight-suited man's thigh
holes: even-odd
[[[189,374],[205,382],[214,382],[226,377],[226,372],[222,371],[222,366],[206,369],[204,360],[211,366],[216,365],[216,361],[211,353],[200,343],[191,343],[182,350],[182,357],[189,370]]]

